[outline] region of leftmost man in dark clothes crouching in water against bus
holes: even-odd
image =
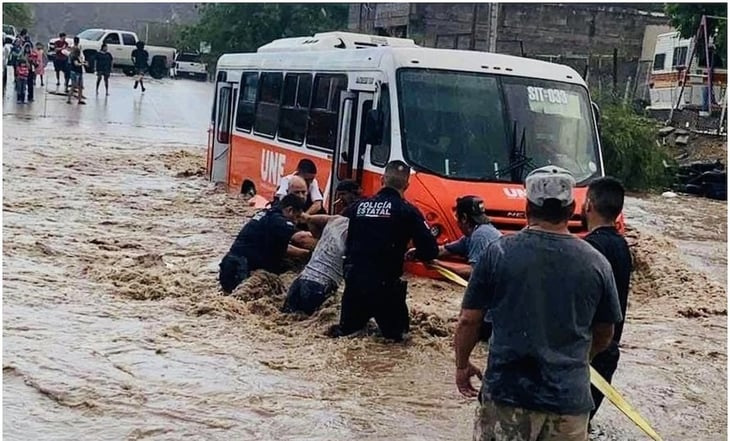
[[[220,263],[219,281],[230,294],[251,271],[280,273],[285,255],[306,257],[309,250],[291,245],[296,222],[304,211],[304,201],[285,196],[276,207],[261,210],[243,226]]]

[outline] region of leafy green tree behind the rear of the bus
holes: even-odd
[[[210,43],[208,58],[253,52],[272,40],[335,31],[347,25],[349,5],[336,3],[206,3],[200,20],[180,33],[179,46],[197,50]]]

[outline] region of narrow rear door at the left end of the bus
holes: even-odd
[[[233,105],[236,103],[238,85],[219,82],[216,86],[215,120],[213,121],[213,149],[211,153],[210,176],[212,182],[228,184],[231,126],[233,125]]]

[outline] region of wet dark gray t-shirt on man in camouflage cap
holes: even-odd
[[[564,415],[593,409],[594,323],[621,321],[611,265],[585,241],[525,229],[487,247],[464,309],[494,323],[483,387],[498,403]]]

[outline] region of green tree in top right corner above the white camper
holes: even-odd
[[[674,26],[682,38],[692,38],[697,34],[703,15],[727,17],[726,3],[667,3],[664,11],[669,16],[669,22]],[[715,41],[715,55],[723,62],[727,54],[727,20],[716,18],[707,19],[708,35]],[[700,63],[704,64],[704,43],[697,42],[697,51]]]

